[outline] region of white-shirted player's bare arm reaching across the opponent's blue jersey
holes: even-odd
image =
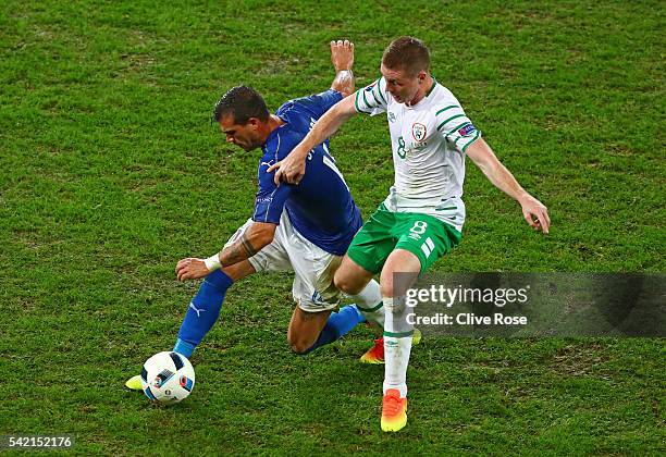
[[[280,181],[289,184],[298,184],[305,174],[305,161],[317,145],[322,144],[328,137],[333,135],[344,122],[356,114],[354,107],[354,95],[350,95],[333,106],[314,123],[310,133],[303,138],[292,152],[283,160],[271,165],[267,173],[275,172],[275,185],[280,185]]]

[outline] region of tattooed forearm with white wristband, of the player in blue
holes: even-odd
[[[208,259],[188,257],[178,261],[175,268],[178,281],[198,280],[223,267],[233,265],[249,259],[268,246],[275,236],[278,225],[254,222],[244,233],[221,252]]]

